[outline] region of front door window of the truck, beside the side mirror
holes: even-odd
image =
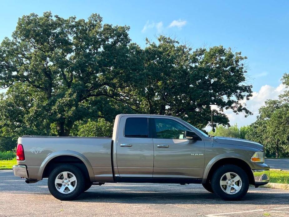
[[[185,131],[190,130],[172,119],[155,118],[157,139],[184,139]]]

